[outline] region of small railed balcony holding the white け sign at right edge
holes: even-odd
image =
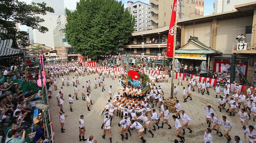
[[[237,43],[233,43],[232,53],[256,54],[256,43],[247,43],[246,50],[238,50]]]

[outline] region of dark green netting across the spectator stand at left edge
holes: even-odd
[[[0,83],[4,83],[4,81],[6,80],[6,78],[5,77],[1,77],[0,78]],[[20,86],[21,88],[19,89],[19,90],[23,90],[24,92],[24,94],[25,94],[25,92],[27,92],[30,88],[31,89],[33,89],[33,92],[37,92],[39,89],[40,89],[40,87],[39,86],[37,86],[37,84],[36,83],[31,83],[31,82],[27,82],[27,81],[22,81],[22,80],[20,80],[20,79],[9,79],[9,82],[10,81],[13,81],[13,83],[18,83],[18,86]],[[35,94],[35,93],[33,93],[33,94]]]

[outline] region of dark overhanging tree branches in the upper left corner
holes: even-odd
[[[35,15],[45,15],[46,12],[54,13],[54,10],[44,2],[27,4],[18,0],[0,0],[0,29],[5,30],[0,31],[1,40],[22,39],[27,35],[26,31],[17,30],[16,23],[27,25],[42,33],[47,32],[48,28],[40,25],[44,19]]]

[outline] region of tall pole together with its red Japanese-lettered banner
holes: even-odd
[[[170,27],[168,30],[168,40],[166,56],[172,58],[172,78],[171,78],[171,99],[173,98],[173,78],[174,78],[174,63],[175,63],[175,47],[176,47],[176,25],[177,25],[177,0],[173,1],[172,15]]]

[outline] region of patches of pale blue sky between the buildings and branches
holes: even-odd
[[[32,0],[19,0],[26,3],[30,3]],[[64,0],[64,6],[68,9],[74,10],[76,8],[76,2],[80,0]],[[137,0],[133,0],[136,2]],[[149,0],[139,0],[144,3],[149,3]],[[209,15],[213,12],[213,2],[214,0],[204,0],[204,15]],[[127,0],[122,0],[126,8]],[[27,26],[19,25],[20,30],[27,31]]]

